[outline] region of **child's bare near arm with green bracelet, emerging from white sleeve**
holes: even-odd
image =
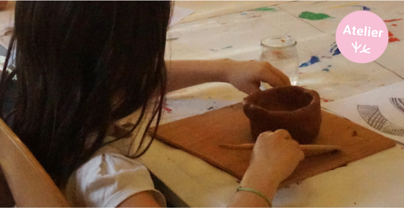
[[[264,132],[257,139],[250,166],[241,180],[240,187],[257,190],[272,202],[279,184],[293,172],[303,158],[304,153],[299,148],[299,144],[292,140],[286,130]],[[264,197],[257,193],[240,190],[233,196],[228,206],[270,206]],[[151,192],[143,191],[127,198],[118,207],[159,206]]]

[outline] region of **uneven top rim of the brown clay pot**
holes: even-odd
[[[299,108],[297,108],[297,109],[295,109],[295,110],[288,110],[288,111],[271,111],[271,110],[268,110],[268,109],[265,109],[265,108],[261,107],[260,105],[252,104],[252,103],[250,103],[250,102],[248,101],[248,98],[249,98],[249,97],[251,98],[251,96],[256,96],[256,95],[258,95],[258,94],[263,94],[263,93],[265,93],[266,90],[264,90],[264,91],[257,91],[257,92],[254,92],[254,93],[250,94],[249,96],[247,96],[246,98],[244,98],[244,99],[243,99],[243,105],[244,105],[244,106],[245,106],[245,105],[249,105],[250,108],[260,109],[260,110],[263,110],[263,111],[266,111],[266,112],[269,111],[269,112],[274,113],[274,114],[288,114],[288,113],[296,113],[296,112],[298,112],[298,111],[302,111],[302,110],[308,108],[308,107],[309,107],[310,105],[312,105],[312,104],[319,103],[320,96],[319,96],[318,92],[316,92],[315,90],[306,89],[306,88],[303,88],[303,87],[300,87],[300,86],[281,86],[281,87],[273,87],[273,88],[270,88],[270,89],[267,89],[267,90],[275,90],[275,88],[288,88],[288,87],[290,87],[290,88],[297,88],[297,89],[301,90],[303,93],[309,94],[309,95],[311,96],[311,98],[312,98],[311,101],[310,101],[310,103],[307,104],[307,105],[305,105],[305,106],[299,107]]]

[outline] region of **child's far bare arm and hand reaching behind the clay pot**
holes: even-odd
[[[167,92],[208,83],[231,83],[250,94],[260,90],[261,81],[271,86],[290,85],[289,78],[268,62],[220,60],[166,61]]]

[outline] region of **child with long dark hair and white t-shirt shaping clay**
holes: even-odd
[[[134,159],[151,142],[144,131],[135,155],[127,155],[133,141],[109,132],[135,111],[132,130],[158,125],[166,92],[206,82],[228,82],[246,93],[261,81],[290,84],[267,62],[165,61],[171,8],[170,1],[17,1],[5,64],[14,50],[15,69],[1,75],[1,118],[71,205],[165,206]],[[12,84],[13,109],[5,112]],[[238,191],[229,206],[270,205],[303,157],[285,130],[261,134],[240,184],[261,194]]]

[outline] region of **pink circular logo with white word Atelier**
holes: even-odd
[[[388,31],[376,14],[356,11],[339,22],[335,41],[341,54],[350,61],[373,62],[387,47]]]

